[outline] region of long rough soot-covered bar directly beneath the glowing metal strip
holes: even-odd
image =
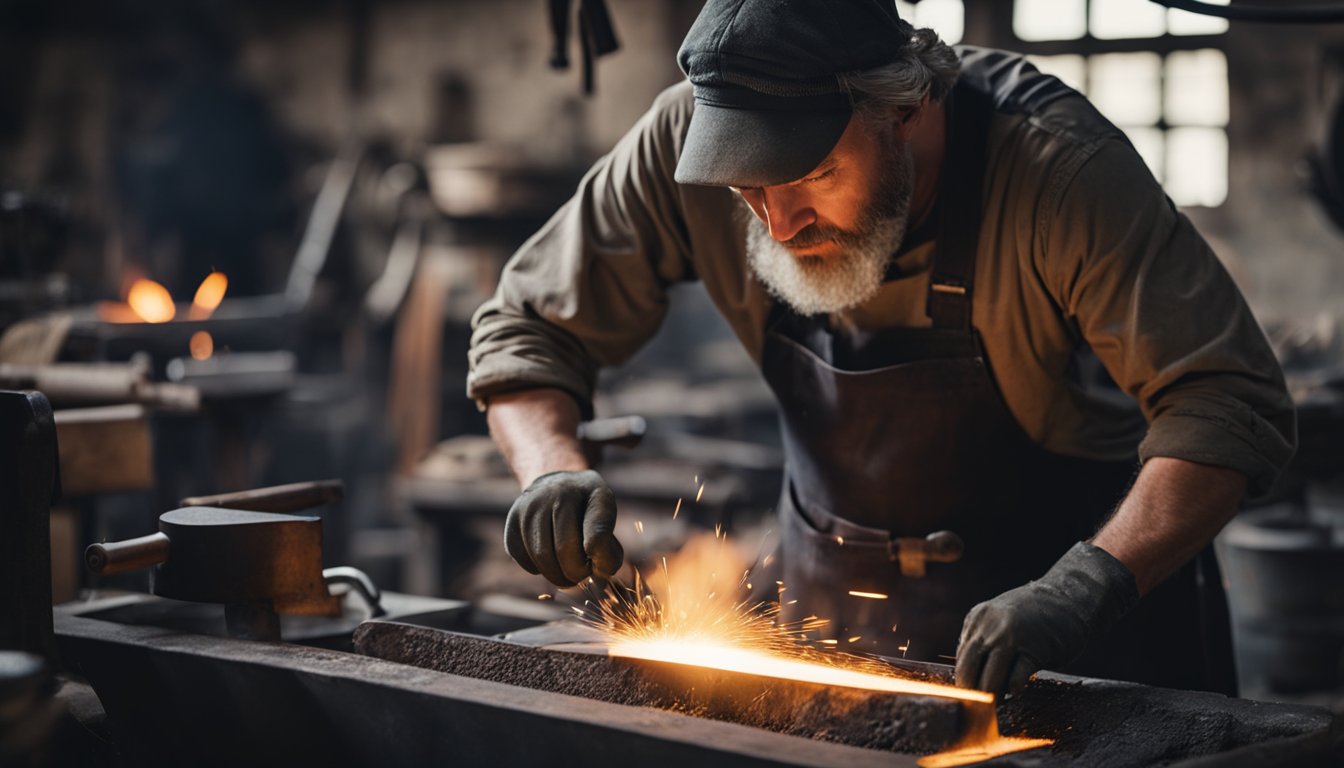
[[[454,675],[887,752],[937,752],[962,728],[961,705],[949,699],[550,651],[390,621],[362,624],[355,650]]]

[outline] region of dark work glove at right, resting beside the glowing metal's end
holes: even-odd
[[[1106,550],[1078,542],[1036,581],[970,609],[961,627],[957,685],[1017,693],[1040,668],[1083,652],[1138,603],[1138,585]]]

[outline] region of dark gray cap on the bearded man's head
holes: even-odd
[[[836,75],[895,61],[913,34],[891,0],[708,0],[677,52],[695,112],[676,180],[801,179],[853,113]]]

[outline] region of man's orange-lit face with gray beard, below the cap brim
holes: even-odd
[[[855,116],[813,172],[738,192],[755,214],[747,227],[755,276],[804,315],[836,312],[882,285],[906,235],[914,164],[890,125]]]

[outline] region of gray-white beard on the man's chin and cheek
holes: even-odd
[[[775,297],[800,315],[821,315],[857,307],[882,288],[887,266],[906,238],[914,178],[907,147],[894,148],[879,178],[879,196],[852,233],[835,239],[843,252],[832,257],[797,256],[770,237],[750,208],[747,264]]]

